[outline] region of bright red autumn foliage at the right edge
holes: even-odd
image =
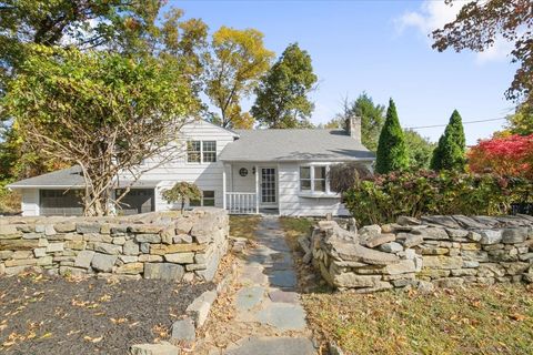
[[[467,156],[472,172],[533,179],[533,134],[481,140]]]

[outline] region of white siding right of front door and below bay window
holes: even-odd
[[[279,209],[281,215],[291,216],[321,216],[326,213],[333,215],[349,215],[340,197],[310,197],[300,194],[298,163],[278,164],[279,175]]]

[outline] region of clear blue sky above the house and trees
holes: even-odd
[[[514,65],[509,43],[487,53],[439,53],[426,33],[457,9],[444,1],[169,1],[185,18],[202,18],[211,31],[221,26],[255,28],[279,55],[298,42],[319,77],[312,94],[314,123],[329,121],[343,98],[366,91],[375,102],[393,98],[402,126],[444,124],[453,109],[463,121],[502,118],[512,112],[504,99]],[[249,102],[243,106],[248,108]],[[465,125],[474,144],[504,121]],[[444,128],[418,130],[436,141]]]

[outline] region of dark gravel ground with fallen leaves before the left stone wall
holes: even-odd
[[[127,354],[169,336],[210,283],[0,277],[0,353]]]

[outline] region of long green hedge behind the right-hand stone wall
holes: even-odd
[[[395,222],[400,215],[499,215],[511,203],[531,202],[533,182],[495,174],[421,170],[359,181],[343,195],[358,223]]]

